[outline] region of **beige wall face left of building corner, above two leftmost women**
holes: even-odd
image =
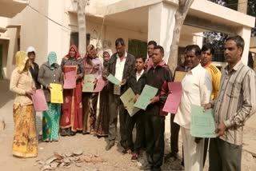
[[[22,11],[21,23],[17,23],[21,24],[21,50],[26,51],[28,46],[34,46],[37,51],[35,61],[42,64],[47,53],[49,22],[42,14],[48,15],[48,1],[31,0],[30,6],[33,6],[41,14],[29,6]]]

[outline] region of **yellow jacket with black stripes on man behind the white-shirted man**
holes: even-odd
[[[211,93],[211,99],[215,100],[218,97],[218,88],[219,84],[221,82],[222,73],[214,64],[209,64],[207,66],[204,66],[204,68],[208,71],[210,74],[210,78],[213,83],[213,92]]]

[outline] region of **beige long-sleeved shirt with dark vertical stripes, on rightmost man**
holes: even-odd
[[[220,137],[234,145],[242,145],[242,128],[255,113],[256,75],[239,61],[229,72],[222,70],[218,97],[212,101],[216,126],[224,122],[226,132]]]

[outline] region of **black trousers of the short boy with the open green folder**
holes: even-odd
[[[144,140],[144,115],[145,113],[140,110],[138,113],[135,113],[133,117],[128,115],[127,117],[127,131],[128,131],[128,147],[131,150],[134,150],[134,153],[139,153],[140,149],[143,146]],[[136,140],[133,141],[133,129],[136,124]]]

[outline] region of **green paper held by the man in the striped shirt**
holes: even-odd
[[[191,117],[190,133],[192,137],[216,137],[212,109],[203,112],[202,106],[191,105]]]

